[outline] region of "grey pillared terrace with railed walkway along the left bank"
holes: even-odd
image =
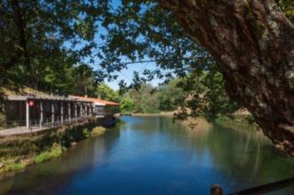
[[[8,96],[1,111],[5,122],[0,136],[28,134],[107,115],[96,113],[91,100],[47,94]]]

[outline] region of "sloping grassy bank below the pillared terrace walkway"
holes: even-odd
[[[105,133],[99,121],[67,126],[28,136],[9,136],[0,139],[0,179],[28,166],[60,157],[68,147],[90,137]]]

